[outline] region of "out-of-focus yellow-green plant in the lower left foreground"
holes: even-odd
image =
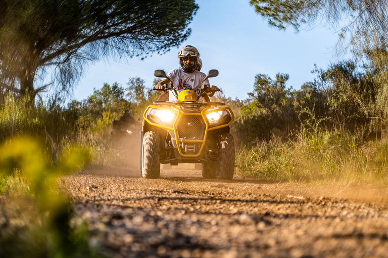
[[[28,137],[0,146],[0,192],[8,195],[0,206],[0,256],[102,257],[89,245],[88,230],[71,225],[72,207],[56,188],[58,175],[87,158],[73,148],[52,165],[41,146]]]

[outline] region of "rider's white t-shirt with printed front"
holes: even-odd
[[[167,73],[167,77],[172,81],[178,94],[183,90],[199,89],[202,84],[210,84],[208,79],[202,83],[206,75],[198,71],[187,74],[182,69],[174,69]],[[169,101],[177,101],[171,91],[169,91]]]

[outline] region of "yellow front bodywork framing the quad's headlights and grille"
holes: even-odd
[[[195,95],[195,96],[197,97],[197,95]],[[169,110],[170,112],[174,113],[176,116],[175,116],[174,121],[171,124],[163,125],[163,124],[155,123],[155,122],[150,121],[150,119],[148,119],[148,117],[147,117],[147,114],[149,113],[150,109]],[[226,110],[230,114],[230,116],[231,116],[230,121],[228,123],[226,123],[226,124],[222,124],[222,125],[218,125],[218,126],[217,125],[212,125],[212,127],[209,128],[209,121],[208,121],[208,119],[206,117],[206,114],[209,114],[209,113],[212,113],[212,112],[219,112],[219,111],[223,111],[223,110]],[[182,115],[184,115],[184,116],[202,116],[202,118],[203,118],[203,120],[205,121],[205,124],[206,124],[205,134],[204,134],[204,139],[203,140],[178,139],[176,128],[177,128],[177,124],[178,124],[178,121],[179,121],[179,117],[182,116]],[[182,112],[176,106],[171,106],[170,108],[166,108],[166,107],[161,107],[161,106],[150,105],[146,109],[146,111],[144,111],[143,117],[151,125],[154,125],[154,126],[157,126],[157,127],[160,127],[160,128],[164,128],[166,130],[174,131],[175,142],[176,142],[176,145],[178,147],[179,154],[182,157],[198,157],[199,155],[201,155],[202,150],[203,150],[203,148],[205,146],[205,142],[206,142],[208,131],[212,131],[212,130],[216,130],[216,129],[221,128],[221,127],[229,126],[233,122],[233,120],[234,120],[234,114],[233,114],[232,110],[229,107],[216,107],[216,108],[205,107],[201,112],[191,113],[191,112]],[[196,153],[196,154],[184,154],[182,152],[181,148],[180,148],[180,143],[182,143],[182,146],[183,146],[184,143],[186,143],[186,144],[189,144],[189,143],[201,143],[201,148],[200,148],[200,151],[198,153]]]

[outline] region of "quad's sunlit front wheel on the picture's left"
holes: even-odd
[[[160,143],[156,132],[147,132],[143,136],[141,153],[141,175],[146,178],[160,176]]]

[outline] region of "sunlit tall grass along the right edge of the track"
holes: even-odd
[[[387,138],[364,142],[344,131],[301,132],[285,143],[273,139],[241,146],[236,151],[236,171],[255,178],[388,186],[387,157]]]

